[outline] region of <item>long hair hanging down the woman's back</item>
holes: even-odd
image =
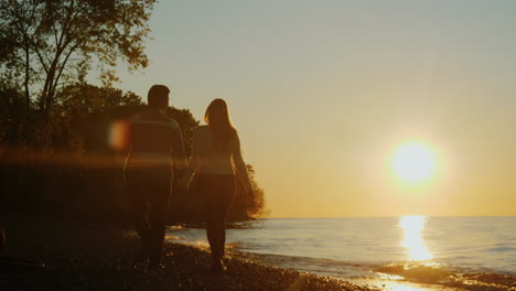
[[[212,131],[212,142],[216,150],[223,151],[227,142],[237,133],[229,118],[229,110],[223,99],[213,100],[206,108],[204,121]]]

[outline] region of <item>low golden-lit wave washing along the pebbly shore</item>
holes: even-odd
[[[513,273],[494,272],[450,267],[439,263],[390,262],[367,263],[355,261],[337,261],[331,259],[315,259],[309,257],[291,257],[271,254],[256,254],[238,250],[238,244],[229,246],[229,256],[254,260],[265,265],[294,269],[301,272],[316,273],[342,280],[372,284],[386,288],[396,283],[393,290],[399,289],[400,283],[416,283],[428,289],[407,290],[469,290],[469,291],[516,291],[516,276]],[[429,288],[434,285],[436,288]],[[390,289],[386,289],[390,290]]]

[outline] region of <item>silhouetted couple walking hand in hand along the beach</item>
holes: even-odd
[[[213,100],[204,115],[207,126],[194,130],[189,161],[178,122],[164,115],[169,93],[166,86],[152,86],[147,108],[131,118],[129,126],[125,184],[143,259],[149,258],[150,268],[160,267],[169,197],[176,195],[172,192],[175,192],[174,176],[184,187],[195,180],[212,250],[212,271],[221,273],[226,269],[223,262],[225,219],[235,193],[236,174],[244,182],[247,198],[254,197],[238,133],[230,122],[226,103]]]

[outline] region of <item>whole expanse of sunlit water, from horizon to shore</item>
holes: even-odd
[[[206,245],[204,229],[170,231],[169,239]],[[336,278],[516,290],[516,217],[271,218],[228,229],[227,245],[268,265]]]

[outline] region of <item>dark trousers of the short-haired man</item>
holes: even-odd
[[[161,261],[171,185],[127,183],[126,187],[143,256],[149,257],[151,265],[158,265]]]

